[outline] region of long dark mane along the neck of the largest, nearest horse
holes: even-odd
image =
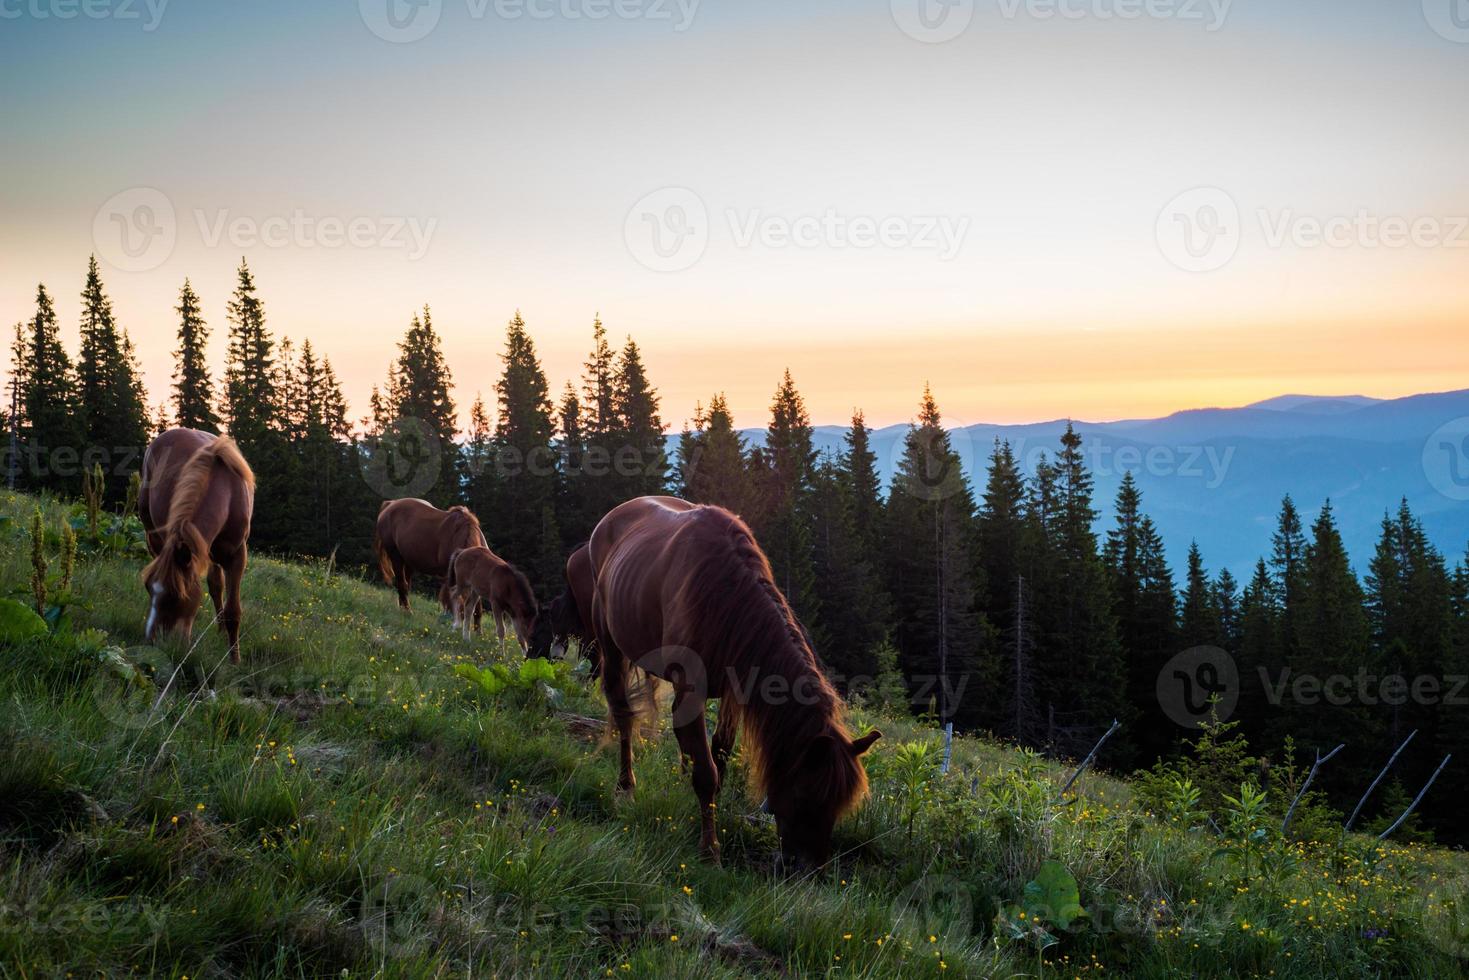
[[[795,777],[802,751],[815,739],[833,730],[848,736],[842,698],[821,670],[745,522],[721,507],[701,507],[695,513],[718,547],[704,550],[696,570],[687,576],[683,599],[705,627],[705,642],[720,645],[711,660],[732,671],[724,705],[745,732],[751,786],[768,795]],[[774,704],[759,695],[759,682],[770,674],[783,676],[793,686]],[[751,679],[755,683],[745,686]],[[795,686],[798,679],[801,683]],[[836,752],[834,758],[840,763],[820,776],[826,785],[808,789],[830,801],[836,817],[842,817],[867,795],[867,774],[849,752]]]

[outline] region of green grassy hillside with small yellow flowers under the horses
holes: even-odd
[[[35,505],[0,494],[12,598]],[[44,504],[53,580],[68,516]],[[0,654],[0,976],[1448,977],[1469,954],[1457,854],[1310,813],[1322,840],[1287,840],[1275,798],[1152,815],[1097,774],[1058,805],[1066,767],[956,739],[939,774],[931,730],[862,710],[886,738],[829,873],[773,874],[739,757],[710,867],[671,736],[616,799],[580,674],[517,683],[511,658],[491,692],[455,667],[492,642],[429,601],[259,558],[239,667],[209,613],[191,652],[137,646],[141,561],[85,538],[57,629]]]

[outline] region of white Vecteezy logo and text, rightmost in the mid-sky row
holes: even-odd
[[[1158,215],[1158,250],[1184,272],[1213,272],[1234,259],[1249,223],[1227,191],[1184,191]],[[1469,215],[1375,215],[1366,209],[1303,215],[1260,207],[1253,223],[1266,248],[1469,248]]]

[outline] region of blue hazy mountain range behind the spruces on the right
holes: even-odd
[[[1435,433],[1460,420],[1451,438]],[[1168,544],[1175,572],[1197,539],[1210,572],[1246,577],[1271,548],[1281,498],[1288,492],[1307,519],[1331,500],[1359,574],[1366,572],[1382,516],[1407,498],[1450,563],[1469,547],[1469,389],[1407,398],[1282,395],[1243,408],[1197,408],[1162,419],[1075,422],[1112,525],[1112,498],[1131,470],[1143,507]],[[1009,439],[1027,473],[1053,454],[1065,419],[1031,425],[972,425],[950,438],[975,494],[983,489],[996,439]],[[873,433],[883,485],[892,480],[906,426]],[[762,429],[745,429],[759,444]],[[839,453],[845,428],[818,426],[817,448]],[[1431,441],[1432,439],[1432,441]]]

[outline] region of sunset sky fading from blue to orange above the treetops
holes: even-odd
[[[674,429],[1469,386],[1462,0],[927,1],[0,0],[3,325],[95,251],[157,403],[245,257],[354,414],[425,303],[463,408],[599,311]]]

